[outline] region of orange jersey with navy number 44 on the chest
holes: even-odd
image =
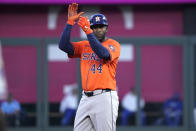
[[[71,58],[81,59],[82,88],[84,91],[96,89],[116,90],[116,67],[120,56],[120,44],[107,39],[102,45],[108,49],[111,59],[100,59],[92,50],[89,41],[72,42],[74,55]]]

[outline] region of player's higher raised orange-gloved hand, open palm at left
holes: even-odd
[[[67,23],[70,25],[74,25],[75,21],[79,19],[79,17],[83,14],[84,12],[78,13],[78,4],[72,3],[69,5],[68,8],[68,21]]]

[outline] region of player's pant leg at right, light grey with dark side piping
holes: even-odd
[[[96,131],[116,131],[118,105],[116,91],[93,96],[90,118]]]

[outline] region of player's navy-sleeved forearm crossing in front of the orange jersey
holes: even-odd
[[[87,38],[89,40],[91,48],[93,49],[93,51],[97,54],[99,58],[104,59],[104,60],[110,59],[109,51],[104,46],[102,46],[102,44],[97,40],[97,38],[95,37],[93,33],[88,34]]]

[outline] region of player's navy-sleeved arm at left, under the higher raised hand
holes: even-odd
[[[70,43],[70,34],[71,34],[72,25],[66,24],[64,31],[59,40],[59,48],[68,53],[69,55],[74,54],[73,45]]]

